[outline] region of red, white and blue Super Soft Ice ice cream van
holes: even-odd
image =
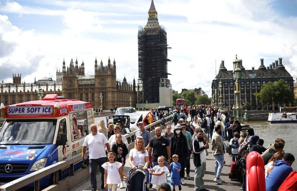
[[[0,109],[5,118],[0,130],[0,185],[81,153],[94,123],[92,103],[57,94],[8,106],[1,103]],[[82,164],[74,164],[74,169]],[[59,179],[69,171],[59,171]],[[51,184],[54,178],[51,174],[40,179],[40,186]]]

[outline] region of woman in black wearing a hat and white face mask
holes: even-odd
[[[181,126],[176,125],[173,129],[173,136],[171,137],[170,151],[171,156],[178,155],[178,163],[181,164],[181,172],[179,173],[181,178],[181,184],[186,184],[184,181],[185,176],[185,166],[187,164],[187,159],[189,158],[189,147],[187,144],[187,138],[183,135],[181,131]]]

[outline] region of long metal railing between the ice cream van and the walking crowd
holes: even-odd
[[[172,119],[173,119],[172,115],[165,117],[165,125],[170,124]],[[147,129],[148,131],[151,132],[152,135],[154,135],[154,129],[156,127],[165,128],[164,126],[162,126],[162,120],[155,121],[154,123],[151,123],[151,124],[145,126],[145,129]],[[139,130],[137,130],[137,131],[139,131]],[[133,131],[129,134],[124,135],[127,138],[128,143],[129,143],[128,150],[130,150],[131,148],[134,148],[133,142],[134,142],[134,137],[135,137],[135,134],[137,131]],[[87,151],[86,155],[88,153],[89,152]],[[74,172],[74,164],[81,160],[81,155],[82,155],[82,153],[77,154],[73,157],[67,158],[63,161],[57,162],[55,164],[52,164],[45,168],[42,168],[38,171],[32,172],[31,174],[28,174],[26,176],[23,176],[21,178],[18,178],[16,180],[8,182],[7,184],[4,184],[3,186],[0,187],[0,191],[2,191],[2,190],[5,190],[5,191],[18,190],[28,184],[31,184],[32,182],[34,182],[34,187],[35,187],[34,190],[39,191],[40,190],[39,180],[45,176],[52,174],[52,173],[54,173],[54,177],[55,177],[54,181],[53,181],[54,185],[58,186],[58,188],[56,188],[55,190],[63,190],[63,187],[65,187],[65,184],[67,184],[66,188],[69,189],[69,183],[67,181],[64,181],[64,180],[59,181],[58,180],[59,179],[59,170],[70,166],[69,176],[74,176],[75,174],[77,174],[78,171],[80,171],[80,170]],[[81,170],[85,170],[85,171],[87,171],[87,173],[89,172],[88,169],[81,169]],[[77,183],[77,180],[75,180],[75,181]],[[48,190],[50,190],[50,189],[48,189]]]

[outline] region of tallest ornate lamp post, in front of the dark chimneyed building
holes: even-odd
[[[233,78],[235,80],[235,86],[236,89],[234,90],[234,94],[235,94],[235,98],[236,98],[236,120],[240,120],[240,116],[239,116],[239,94],[240,94],[240,89],[239,89],[239,80],[241,79],[241,69],[238,67],[239,66],[240,61],[237,59],[237,54],[236,54],[236,58],[235,60],[233,60],[233,66],[234,66],[234,70],[233,70]]]

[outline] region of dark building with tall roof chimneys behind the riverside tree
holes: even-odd
[[[260,66],[258,70],[252,67],[252,70],[246,70],[242,65],[242,60],[239,60],[239,68],[241,69],[241,79],[239,82],[239,89],[241,91],[239,95],[239,104],[249,102],[251,104],[251,110],[263,110],[266,109],[266,105],[260,103],[255,97],[255,93],[260,92],[263,85],[268,82],[275,82],[283,79],[287,82],[290,89],[293,91],[294,80],[290,73],[282,65],[282,58],[272,62],[267,68],[264,66],[264,59],[260,59]],[[212,95],[215,94],[217,89],[217,103],[219,102],[219,81],[222,80],[222,98],[225,110],[231,110],[233,104],[236,102],[234,89],[235,80],[233,79],[233,70],[228,70],[224,66],[224,60],[222,60],[219,73],[216,78],[212,81]],[[272,107],[277,107],[277,103],[271,103]],[[282,104],[282,103],[280,103]]]

